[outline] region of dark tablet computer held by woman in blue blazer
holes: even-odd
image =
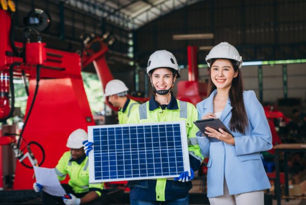
[[[211,142],[220,142],[220,140],[216,138],[212,138],[208,136],[205,131],[206,127],[213,128],[218,131],[219,128],[223,129],[225,132],[230,133],[233,137],[234,135],[230,130],[227,129],[227,127],[221,122],[219,118],[210,118],[210,119],[205,119],[205,120],[196,120],[193,122],[199,130],[211,141]]]

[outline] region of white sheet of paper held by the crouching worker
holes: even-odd
[[[65,190],[54,169],[34,166],[36,182],[43,186],[43,191],[53,196],[64,196]]]

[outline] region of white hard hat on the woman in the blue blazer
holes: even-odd
[[[216,45],[209,54],[206,56],[206,62],[208,66],[211,66],[211,60],[215,58],[226,58],[237,61],[237,65],[240,68],[242,66],[242,57],[233,45],[228,42],[221,42]]]

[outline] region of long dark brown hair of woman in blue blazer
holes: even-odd
[[[213,59],[211,61],[211,67],[214,62],[217,60]],[[245,111],[244,102],[243,102],[243,80],[241,76],[241,71],[236,63],[232,59],[226,59],[230,61],[234,67],[235,71],[238,71],[238,75],[232,81],[232,86],[228,97],[231,100],[232,109],[232,118],[230,121],[230,129],[232,131],[238,131],[245,134],[245,129],[249,127],[247,113]],[[209,69],[209,84],[208,84],[208,95],[211,95],[212,92],[216,89],[216,85],[213,83],[211,78],[211,69]]]

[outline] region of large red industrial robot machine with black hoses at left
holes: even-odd
[[[3,28],[0,33],[0,120],[3,122],[0,136],[0,189],[4,188],[2,176],[8,167],[8,162],[3,159],[10,152],[7,149],[10,146],[17,158],[13,189],[20,190],[32,189],[32,165],[44,162],[44,167],[55,167],[63,152],[68,150],[66,140],[71,131],[77,128],[87,130],[87,126],[94,125],[81,77],[81,64],[85,67],[93,62],[105,87],[113,76],[104,54],[108,51],[108,43],[114,39],[108,35],[102,38],[85,36],[81,60],[76,53],[48,49],[41,42],[39,32],[47,28],[49,17],[39,9],[30,12],[25,18],[30,25],[24,29],[25,41],[15,42],[13,15],[13,11],[0,10],[0,25]],[[29,41],[33,31],[37,34],[36,42]],[[108,43],[104,42],[106,39]],[[14,77],[29,80],[29,98],[20,133],[15,127],[4,125],[14,110]]]

